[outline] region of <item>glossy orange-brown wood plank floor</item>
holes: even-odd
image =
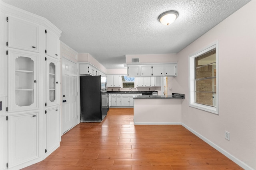
[[[24,170],[242,170],[181,125],[135,125],[133,109],[110,108],[80,123],[60,148]]]

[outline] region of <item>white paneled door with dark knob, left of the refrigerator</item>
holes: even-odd
[[[77,66],[62,58],[62,133],[78,123]]]

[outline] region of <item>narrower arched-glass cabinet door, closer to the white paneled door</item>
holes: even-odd
[[[46,106],[53,106],[59,103],[59,74],[58,61],[46,60]]]

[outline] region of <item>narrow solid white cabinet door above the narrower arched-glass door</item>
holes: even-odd
[[[46,30],[46,54],[48,56],[59,58],[60,38],[51,30]]]

